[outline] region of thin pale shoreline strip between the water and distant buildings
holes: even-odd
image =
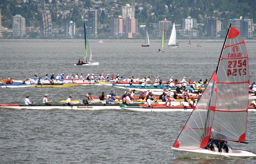
[[[88,39],[90,42],[99,42],[102,40],[103,42],[144,42],[144,40],[129,40],[129,39]],[[225,39],[196,39],[191,40],[191,42],[224,42]],[[0,42],[84,42],[83,39],[0,39]],[[159,42],[160,39],[150,40],[150,42]],[[244,40],[245,42],[256,42],[256,40]],[[166,40],[165,42],[168,42]],[[177,40],[177,42],[188,42],[188,40]]]

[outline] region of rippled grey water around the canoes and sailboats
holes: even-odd
[[[209,80],[216,69],[223,42],[205,42],[202,47],[165,48],[160,43],[141,47],[140,42],[91,42],[93,61],[99,66],[73,66],[84,53],[84,42],[0,42],[0,77],[32,78],[35,73],[120,76],[168,81]],[[246,44],[251,82],[256,80],[256,44]],[[91,92],[107,94],[109,86],[71,88],[0,88],[0,103],[23,103],[27,94],[42,102],[44,94],[54,102],[84,98]],[[124,90],[116,89],[117,95]],[[253,159],[174,160],[171,147],[188,119],[188,112],[126,112],[120,110],[0,110],[1,163],[255,163]],[[248,145],[230,143],[256,153],[256,113],[248,113]]]

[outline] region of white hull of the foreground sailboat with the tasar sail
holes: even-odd
[[[207,149],[181,149],[181,148],[172,148],[172,152],[174,154],[174,159],[177,158],[220,158],[223,156],[228,156],[232,158],[251,158],[256,157],[256,154],[253,154],[248,151],[244,150],[229,150],[228,153],[226,152],[213,152]]]

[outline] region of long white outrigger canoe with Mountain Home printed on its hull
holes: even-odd
[[[134,103],[138,106],[141,103]],[[50,103],[42,104],[35,103],[30,105],[24,104],[0,104],[0,108],[4,109],[34,109],[34,110],[50,110],[50,109],[67,109],[67,110],[108,110],[108,109],[121,109],[119,103],[116,104],[103,104],[103,103],[94,103],[94,104],[74,104],[68,105],[65,103]]]

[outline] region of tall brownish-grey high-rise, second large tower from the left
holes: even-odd
[[[42,13],[40,30],[42,36],[52,36],[52,18],[49,10],[44,10]]]

